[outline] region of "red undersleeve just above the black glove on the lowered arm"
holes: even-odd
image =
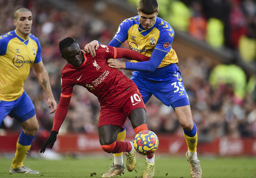
[[[68,106],[70,105],[70,99],[66,97],[60,97],[60,102],[56,108],[52,130],[59,132],[60,126],[64,122],[67,116]]]

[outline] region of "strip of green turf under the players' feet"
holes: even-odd
[[[199,157],[203,178],[255,178],[256,158],[213,158]],[[84,156],[80,158],[63,158],[61,160],[45,160],[42,158],[26,158],[24,164],[30,165],[40,174],[8,173],[12,158],[0,157],[0,178],[99,178],[105,173],[113,159],[111,156]],[[125,156],[124,156],[125,161]],[[154,178],[190,178],[189,164],[185,157],[156,156]],[[117,178],[142,178],[144,156],[137,154],[137,166],[134,171],[125,171]],[[96,173],[96,175],[94,175]],[[91,176],[92,174],[92,176]]]

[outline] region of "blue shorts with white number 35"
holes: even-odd
[[[154,95],[164,105],[173,108],[189,105],[181,72],[176,64],[157,68],[154,72],[135,71],[132,73],[131,79],[138,86],[144,103]]]

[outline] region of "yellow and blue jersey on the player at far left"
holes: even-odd
[[[34,35],[22,39],[13,30],[0,36],[0,100],[19,98],[32,64],[40,61],[41,46]]]

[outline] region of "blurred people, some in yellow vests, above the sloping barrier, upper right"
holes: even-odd
[[[137,0],[128,0],[137,7]],[[256,0],[158,0],[159,15],[174,29],[214,48],[238,51],[256,64]]]

